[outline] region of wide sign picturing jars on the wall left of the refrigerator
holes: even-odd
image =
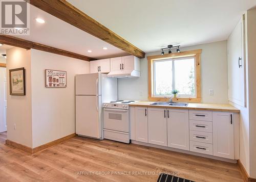
[[[46,69],[46,87],[67,87],[67,71]]]

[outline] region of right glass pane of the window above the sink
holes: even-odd
[[[195,95],[195,59],[174,61],[175,89],[179,95]]]

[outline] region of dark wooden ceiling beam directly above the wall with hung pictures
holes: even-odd
[[[72,52],[67,51],[67,50],[62,50],[62,49],[59,49],[59,48],[51,47],[51,46],[48,46],[48,45],[32,42],[32,41],[25,40],[25,39],[20,39],[20,38],[17,38],[17,37],[4,35],[4,34],[0,34],[0,43],[1,44],[12,45],[12,46],[15,46],[15,47],[20,47],[20,48],[25,48],[25,49],[33,48],[33,49],[37,49],[37,50],[46,51],[48,53],[67,56],[67,57],[76,58],[76,59],[80,59],[80,60],[84,60],[84,61],[96,60],[94,58],[90,58],[90,57],[87,57],[87,56],[72,53]]]

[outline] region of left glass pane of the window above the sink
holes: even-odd
[[[155,61],[155,95],[170,95],[172,92],[172,61]]]

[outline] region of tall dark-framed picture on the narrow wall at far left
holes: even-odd
[[[26,95],[25,69],[9,70],[10,95]]]

